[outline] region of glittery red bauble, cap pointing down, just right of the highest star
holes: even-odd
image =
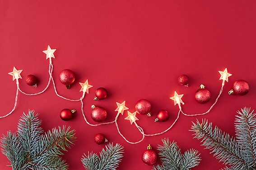
[[[67,89],[69,89],[70,85],[74,83],[75,80],[74,72],[72,72],[70,69],[62,70],[59,75],[59,79],[61,83],[65,85]]]

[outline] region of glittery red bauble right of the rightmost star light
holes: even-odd
[[[247,81],[238,80],[233,84],[233,89],[228,94],[237,94],[239,96],[246,95],[250,90],[250,85]]]

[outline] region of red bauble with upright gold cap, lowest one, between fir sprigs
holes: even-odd
[[[149,145],[147,150],[145,150],[142,154],[142,161],[144,164],[152,166],[157,161],[157,153],[152,149]]]

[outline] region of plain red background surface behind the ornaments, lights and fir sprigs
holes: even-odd
[[[64,159],[71,170],[84,170],[80,161],[88,152],[99,153],[105,145],[97,145],[95,134],[105,134],[109,143],[124,146],[120,170],[151,170],[141,161],[141,155],[150,143],[157,150],[161,139],[169,138],[180,146],[182,152],[194,148],[200,152],[202,161],[193,170],[218,170],[222,163],[209,154],[209,150],[193,139],[191,121],[207,119],[223,131],[235,136],[234,120],[237,110],[243,107],[256,108],[256,2],[255,0],[23,0],[0,1],[0,105],[1,116],[14,107],[16,83],[8,72],[13,67],[23,70],[19,79],[20,89],[26,93],[38,93],[47,85],[49,59],[47,45],[56,49],[53,62],[53,78],[59,94],[79,99],[82,92],[79,82],[86,81],[93,88],[85,95],[84,112],[90,123],[92,104],[104,107],[113,121],[116,102],[126,100],[130,112],[135,112],[135,103],[145,98],[152,104],[152,116],[137,115],[146,134],[166,130],[177,117],[178,106],[169,98],[182,97],[185,113],[206,112],[219,94],[222,81],[218,71],[226,67],[233,74],[225,82],[223,94],[205,116],[181,115],[167,133],[145,137],[139,144],[129,144],[118,134],[114,124],[92,127],[86,124],[80,102],[70,102],[56,96],[52,82],[40,95],[27,96],[19,93],[15,111],[0,119],[0,134],[17,130],[20,116],[28,110],[40,113],[42,128],[47,131],[57,126],[71,126],[76,130],[75,145],[64,152]],[[63,69],[71,69],[76,80],[70,89],[58,80]],[[33,74],[38,87],[26,85],[25,77]],[[177,77],[190,77],[189,87],[177,83]],[[245,96],[228,95],[234,81],[246,80],[250,92]],[[209,103],[195,101],[195,91],[204,84],[211,92]],[[94,92],[104,87],[108,96],[94,101]],[[70,121],[62,121],[64,108],[76,109]],[[167,122],[154,123],[157,112],[166,109],[170,113]],[[121,133],[131,142],[142,138],[135,125],[118,118]],[[11,170],[8,159],[0,154],[0,169]],[[158,159],[157,164],[161,161]]]

